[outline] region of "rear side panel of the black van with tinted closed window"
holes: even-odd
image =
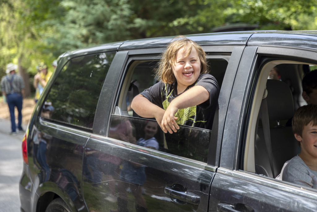
[[[55,73],[39,100],[28,144],[30,178],[35,199],[40,202],[34,208],[46,208],[56,194],[72,211],[87,210],[81,188],[82,158],[114,55],[111,52],[70,59]]]

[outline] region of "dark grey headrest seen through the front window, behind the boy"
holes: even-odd
[[[269,120],[288,120],[294,115],[294,101],[289,86],[276,79],[266,83]]]

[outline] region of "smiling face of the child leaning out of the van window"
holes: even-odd
[[[177,93],[184,92],[187,86],[196,82],[200,75],[200,59],[195,48],[191,49],[191,53],[186,56],[187,49],[181,48],[177,51],[175,64],[173,65],[173,73],[177,80]]]

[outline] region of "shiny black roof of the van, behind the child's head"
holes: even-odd
[[[146,38],[95,45],[87,48],[67,51],[62,54],[60,58],[73,58],[106,51],[162,48],[166,47],[174,37],[175,36]],[[240,31],[194,34],[186,35],[186,37],[202,46],[288,46],[314,49],[317,51],[317,31]]]

